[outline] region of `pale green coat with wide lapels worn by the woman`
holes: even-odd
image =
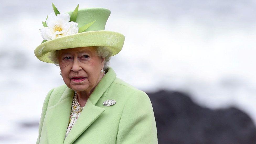
[[[157,129],[151,101],[146,93],[116,77],[109,67],[64,140],[74,90],[66,84],[47,94],[36,143],[45,144],[157,144]],[[116,104],[104,106],[105,100]]]

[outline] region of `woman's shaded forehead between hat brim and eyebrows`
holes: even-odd
[[[70,49],[62,49],[59,50],[60,54],[73,54],[73,53],[82,53],[82,52],[89,52],[94,53],[96,51],[96,47],[75,47]]]

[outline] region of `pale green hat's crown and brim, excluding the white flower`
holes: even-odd
[[[57,13],[59,12],[53,3],[52,5],[54,8],[54,12],[57,15]],[[106,46],[113,52],[111,56],[114,56],[121,51],[124,45],[125,36],[118,32],[105,30],[105,24],[110,15],[109,9],[95,7],[83,8],[78,10],[77,6],[77,8],[74,11],[70,11],[67,13],[70,15],[70,21],[74,20],[75,23],[78,24],[77,27],[79,28],[80,32],[78,31],[78,33],[65,35],[48,41],[44,40],[34,50],[35,56],[39,60],[47,63],[54,63],[49,59],[49,55],[51,54],[51,52],[55,50],[68,49],[74,47]],[[46,25],[46,22],[43,22],[43,25],[44,27],[48,27]],[[56,33],[57,32],[58,31],[56,31]]]

